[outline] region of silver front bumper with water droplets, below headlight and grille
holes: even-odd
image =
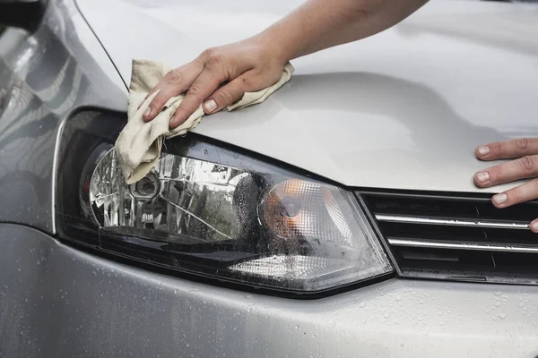
[[[3,356],[529,357],[538,287],[392,279],[312,301],[165,277],[0,225]]]

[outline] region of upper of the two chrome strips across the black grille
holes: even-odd
[[[440,226],[469,226],[469,227],[490,227],[499,229],[519,229],[528,230],[528,224],[509,223],[502,221],[482,221],[456,218],[435,218],[435,217],[406,217],[401,215],[376,214],[377,221],[388,223],[404,223],[418,225],[440,225]]]

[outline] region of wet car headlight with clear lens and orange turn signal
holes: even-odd
[[[195,134],[167,146],[158,166],[131,185],[115,151],[94,147],[79,197],[83,226],[99,232],[95,246],[195,275],[302,293],[392,271],[351,193]]]

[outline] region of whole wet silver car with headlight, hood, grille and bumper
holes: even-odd
[[[473,185],[538,135],[536,4],[430,2],[118,174],[133,59],[299,3],[0,1],[1,356],[538,355],[538,204]]]

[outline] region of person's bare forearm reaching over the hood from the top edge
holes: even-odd
[[[381,32],[428,0],[309,0],[256,35],[289,61]]]

